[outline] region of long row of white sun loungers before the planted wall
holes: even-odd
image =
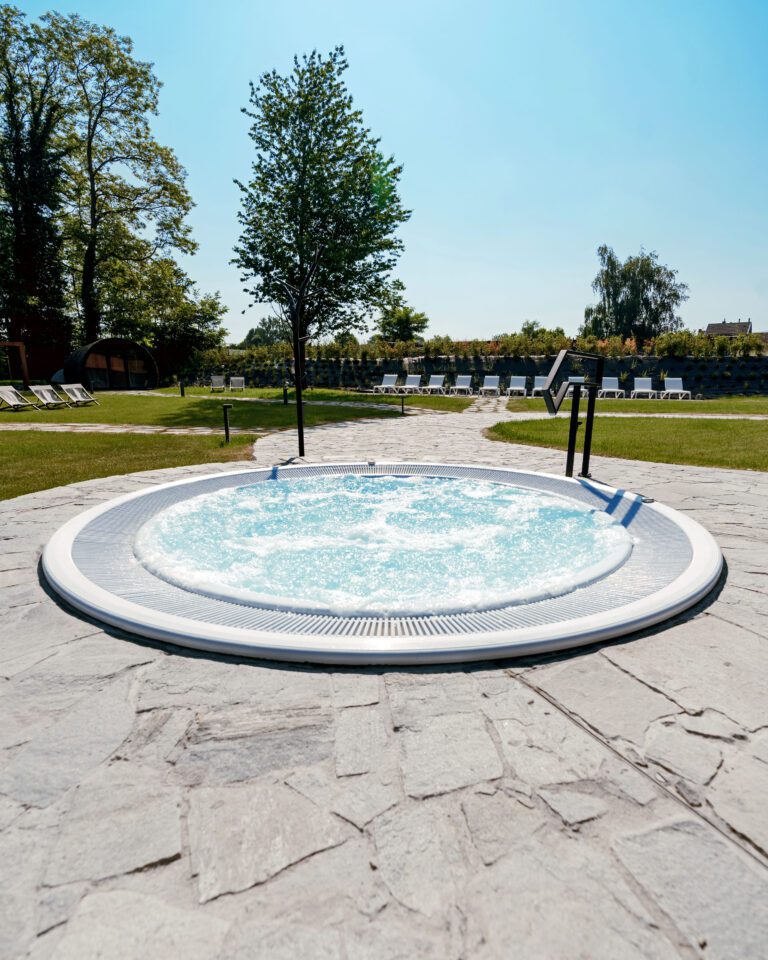
[[[381,383],[377,384],[373,388],[374,393],[391,393],[391,394],[429,394],[437,393],[445,396],[446,394],[451,394],[453,396],[470,396],[472,395],[472,377],[471,376],[459,376],[456,377],[456,383],[454,386],[446,389],[445,386],[445,377],[436,374],[429,378],[429,383],[426,386],[421,384],[421,376],[419,374],[409,375],[405,378],[405,383],[398,384],[396,373],[388,373],[385,375]],[[500,377],[496,376],[486,376],[483,380],[482,386],[477,391],[480,396],[490,395],[490,396],[500,396],[501,387],[500,387]],[[584,385],[584,377],[569,377],[569,387],[568,387],[568,396],[573,394],[573,388],[578,383]],[[538,397],[544,393],[544,384],[547,382],[546,377],[534,377],[533,387],[531,389],[531,396]],[[509,385],[504,391],[508,397],[528,396],[528,378],[527,377],[510,377]],[[626,390],[622,389],[619,386],[618,377],[603,377],[602,383],[600,384],[600,389],[597,391],[598,397],[613,397],[613,398],[624,398],[627,393]],[[634,389],[630,392],[630,397],[635,399],[637,397],[648,397],[651,400],[656,400],[661,398],[662,400],[683,400],[691,399],[691,391],[686,390],[683,387],[683,381],[680,377],[667,377],[664,380],[664,389],[663,390],[654,390],[653,381],[651,377],[635,377]]]

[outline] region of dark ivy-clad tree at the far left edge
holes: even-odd
[[[0,326],[32,347],[37,366],[35,351],[66,352],[72,334],[56,221],[68,106],[48,40],[0,6]]]

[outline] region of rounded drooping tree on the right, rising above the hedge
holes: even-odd
[[[584,311],[582,336],[634,337],[641,346],[682,327],[675,311],[688,299],[688,286],[677,279],[676,270],[659,263],[656,253],[641,249],[622,263],[604,244],[597,255],[600,270],[592,289],[600,299]]]

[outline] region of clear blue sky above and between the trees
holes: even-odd
[[[22,0],[113,26],[164,88],[159,139],[189,173],[199,253],[231,339],[265,311],[229,265],[248,81],[346,46],[356,104],[404,164],[399,276],[430,333],[528,319],[575,332],[595,250],[656,250],[687,325],[768,330],[768,0]]]

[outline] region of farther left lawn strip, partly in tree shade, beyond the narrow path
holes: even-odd
[[[223,423],[222,403],[227,397],[148,397],[132,394],[99,394],[99,405],[61,407],[57,410],[24,410],[0,412],[0,417],[18,423],[131,423],[165,427],[220,427]],[[395,416],[388,407],[370,410],[361,407],[304,407],[307,426],[360,417]],[[267,403],[232,404],[229,420],[233,427],[246,430],[279,429],[296,426],[296,407]],[[0,421],[2,422],[2,421]]]

